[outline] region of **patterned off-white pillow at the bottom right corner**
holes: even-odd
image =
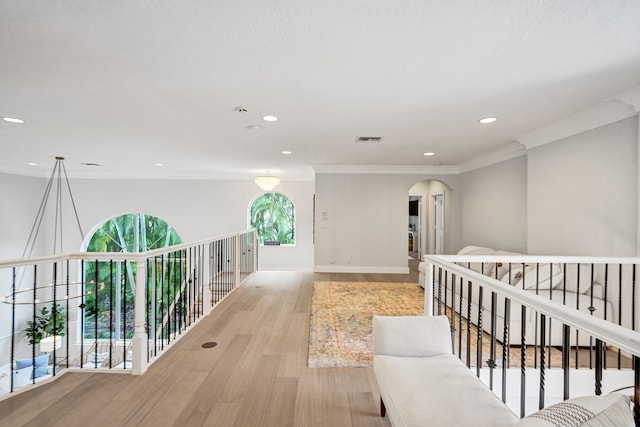
[[[584,396],[541,409],[518,422],[519,427],[633,427],[629,398],[620,393]]]

